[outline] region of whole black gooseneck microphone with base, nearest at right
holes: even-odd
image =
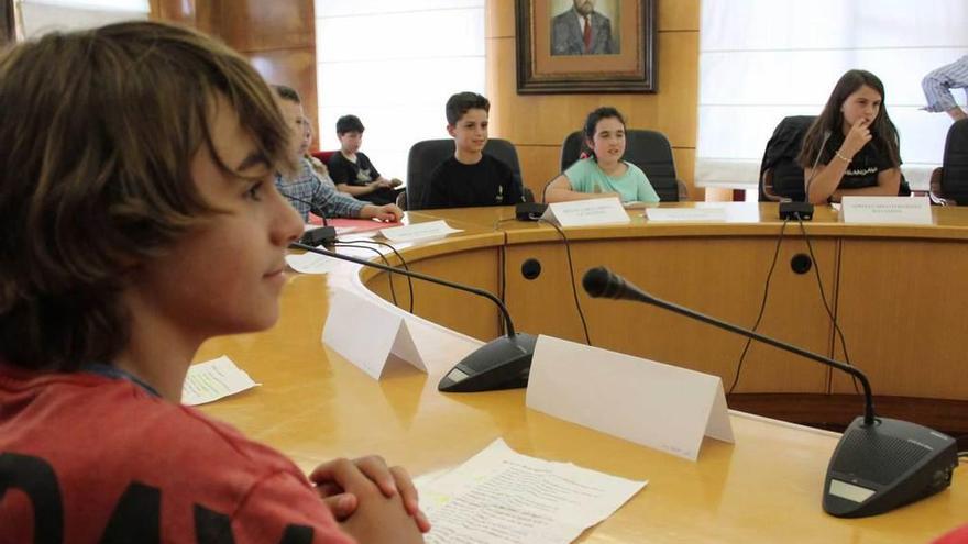
[[[845,371],[864,387],[864,417],[844,431],[824,482],[823,508],[837,518],[865,518],[921,500],[952,485],[958,466],[950,436],[906,421],[877,418],[867,376],[858,368],[716,318],[656,298],[607,268],[592,268],[582,285],[593,298],[635,300],[757,340]]]

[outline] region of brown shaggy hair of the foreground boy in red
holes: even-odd
[[[0,360],[73,370],[127,345],[121,292],[218,213],[191,178],[219,96],[272,169],[288,130],[249,63],[153,22],[47,34],[0,57]]]

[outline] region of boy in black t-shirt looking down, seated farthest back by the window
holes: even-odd
[[[386,179],[376,171],[370,157],[360,151],[363,145],[363,122],[356,115],[343,115],[337,121],[340,151],[330,157],[329,174],[337,189],[374,204],[397,201],[399,179]]]

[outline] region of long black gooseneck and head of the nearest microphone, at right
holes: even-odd
[[[689,308],[681,307],[673,302],[669,302],[667,300],[662,300],[660,298],[653,297],[646,291],[642,291],[635,285],[628,282],[622,276],[608,270],[604,266],[600,266],[596,268],[592,268],[585,273],[584,278],[582,278],[582,286],[585,288],[585,292],[588,293],[592,298],[608,298],[608,299],[623,299],[623,300],[636,300],[639,302],[646,302],[648,304],[657,306],[664,310],[669,310],[681,315],[685,315],[688,318],[692,318],[703,323],[711,324],[713,326],[718,326],[719,329],[724,329],[726,331],[757,340],[765,344],[769,344],[773,347],[783,349],[784,352],[793,353],[800,355],[801,357],[805,357],[812,360],[816,360],[817,363],[822,363],[824,365],[837,368],[838,370],[845,371],[860,381],[861,387],[864,388],[864,398],[865,398],[865,407],[864,407],[864,423],[865,425],[873,425],[877,420],[873,411],[873,395],[870,390],[870,382],[867,379],[867,376],[860,371],[860,369],[845,365],[838,360],[834,360],[829,357],[824,357],[823,355],[809,352],[806,349],[796,347],[794,345],[788,344],[785,342],[781,342],[779,340],[771,338],[770,336],[765,336],[760,333],[750,331],[748,329],[744,329],[738,325],[734,325],[732,323],[727,323],[725,321],[718,320],[711,315],[706,315],[704,313],[700,313],[695,310],[690,310]]]

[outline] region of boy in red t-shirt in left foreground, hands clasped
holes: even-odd
[[[278,318],[288,137],[253,68],[193,31],[0,56],[0,541],[422,541],[403,469],[310,482],[179,403],[206,338]]]

